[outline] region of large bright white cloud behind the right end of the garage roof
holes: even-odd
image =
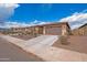
[[[87,23],[86,10],[83,12],[75,12],[70,17],[63,18],[59,22],[68,22],[72,29],[79,28],[80,25]]]

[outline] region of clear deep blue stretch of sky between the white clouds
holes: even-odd
[[[87,9],[87,4],[21,3],[9,20],[19,22],[32,22],[34,20],[55,22],[85,9]]]

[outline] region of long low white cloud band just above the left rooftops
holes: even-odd
[[[0,28],[24,28],[24,26],[41,25],[41,24],[46,24],[46,23],[48,22],[43,22],[43,21],[37,21],[37,20],[30,23],[9,21],[9,22],[4,22],[4,24],[0,25]]]

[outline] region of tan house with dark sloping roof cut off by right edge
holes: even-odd
[[[87,23],[72,31],[73,35],[87,35]]]

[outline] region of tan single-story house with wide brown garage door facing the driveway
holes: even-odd
[[[36,34],[68,35],[70,32],[70,28],[67,22],[50,23],[33,28]]]

